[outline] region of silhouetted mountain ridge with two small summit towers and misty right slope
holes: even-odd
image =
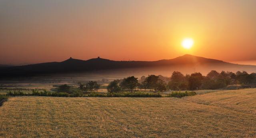
[[[186,54],[169,60],[158,60],[158,61],[114,61],[104,58],[92,58],[90,60],[78,60],[69,58],[62,62],[47,62],[40,64],[31,64],[25,66],[14,66],[0,69],[1,76],[28,76],[36,74],[56,74],[56,73],[67,73],[67,72],[95,72],[95,71],[106,71],[106,70],[134,70],[143,69],[148,70],[170,70],[176,69],[192,69],[197,71],[196,68],[202,68],[208,70],[217,70],[217,67],[232,71],[234,68],[237,70],[250,70],[256,71],[256,66],[252,65],[239,65],[224,62],[221,60],[203,58],[199,56],[192,56]],[[200,70],[198,70],[200,71]]]

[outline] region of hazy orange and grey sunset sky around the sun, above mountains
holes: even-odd
[[[256,0],[0,0],[0,64],[256,60]],[[184,49],[184,38],[194,45]]]

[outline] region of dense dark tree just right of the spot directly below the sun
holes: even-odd
[[[196,72],[190,75],[188,78],[188,88],[189,90],[198,90],[202,85],[203,76],[201,73]]]

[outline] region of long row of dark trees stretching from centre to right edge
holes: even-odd
[[[200,72],[192,74],[182,74],[174,71],[170,79],[166,79],[159,75],[142,76],[140,80],[134,76],[116,79],[110,82],[107,89],[108,92],[135,92],[137,89],[145,89],[150,91],[165,90],[214,90],[225,88],[232,84],[243,84],[254,86],[256,84],[256,73],[248,74],[246,71],[233,72],[217,72],[210,71],[206,76]]]

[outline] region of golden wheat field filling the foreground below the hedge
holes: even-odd
[[[1,138],[255,138],[256,89],[184,98],[12,97]]]

